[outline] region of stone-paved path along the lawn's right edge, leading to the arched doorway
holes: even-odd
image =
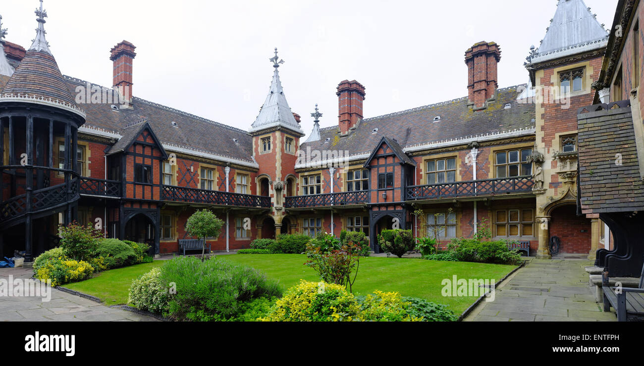
[[[493,302],[481,302],[464,320],[475,322],[616,322],[603,313],[578,259],[531,259],[497,288]]]

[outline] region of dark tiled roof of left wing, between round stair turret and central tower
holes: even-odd
[[[87,82],[83,80],[67,76],[64,78],[71,93],[75,94],[75,89],[79,86],[87,87]],[[90,84],[90,88],[93,86],[95,85]],[[176,145],[222,156],[222,158],[254,163],[252,138],[241,129],[137,97],[133,98],[131,109],[115,110],[110,104],[105,103],[87,103],[81,104],[81,107],[87,114],[85,124],[91,127],[113,131],[124,136],[129,125],[136,124],[145,118],[164,145]]]

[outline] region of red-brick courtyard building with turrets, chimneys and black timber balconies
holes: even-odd
[[[366,87],[343,80],[337,125],[320,128],[316,107],[304,142],[277,50],[267,98],[244,131],[134,96],[127,41],[110,53],[118,94],[63,76],[45,17],[29,50],[0,38],[0,254],[33,257],[71,221],[175,253],[200,208],[227,223],[208,239],[213,250],[358,230],[378,252],[385,228],[438,232],[446,244],[484,223],[540,257],[594,258],[610,241],[598,214],[576,212],[577,114],[594,100],[609,39],[582,0],[558,3],[527,59],[529,83],[499,87],[501,48],[478,42],[464,55],[467,96],[365,118]]]

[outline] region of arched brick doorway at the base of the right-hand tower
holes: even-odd
[[[558,237],[560,254],[588,254],[591,251],[591,219],[577,215],[576,205],[561,205],[550,212],[549,240]]]

